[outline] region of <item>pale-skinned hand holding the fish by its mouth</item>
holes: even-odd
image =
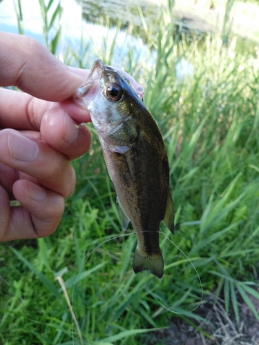
[[[90,148],[88,110],[70,97],[88,71],[29,37],[0,32],[0,242],[46,237],[73,193],[70,161]],[[21,206],[10,206],[17,200]]]

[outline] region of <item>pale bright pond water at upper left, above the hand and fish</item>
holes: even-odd
[[[53,10],[49,13],[49,21],[58,3],[58,0],[53,1]],[[140,38],[140,31],[143,30],[140,9],[147,16],[148,19],[146,20],[153,21],[157,17],[157,5],[148,4],[143,0],[98,2],[61,0],[61,8],[62,34],[57,51],[59,59],[64,59],[67,46],[75,53],[79,53],[79,49],[82,47],[88,47],[89,57],[85,61],[85,66],[89,67],[96,57],[106,58],[107,47],[111,46],[115,35],[116,42],[112,61],[114,66],[121,67],[123,57],[129,54],[132,55],[133,60],[138,59],[139,61],[143,61],[148,55],[151,55],[144,41]],[[23,33],[44,44],[43,21],[38,1],[21,0],[21,10],[23,12]],[[101,23],[108,18],[110,28]],[[118,19],[122,23],[119,32],[115,28]],[[138,37],[129,34],[126,30],[130,23],[137,26]],[[50,39],[54,37],[57,28],[58,23],[55,24],[54,30],[50,31]],[[19,33],[13,1],[3,0],[0,3],[0,30]],[[132,51],[130,52],[130,50]],[[70,64],[73,64],[73,61]]]

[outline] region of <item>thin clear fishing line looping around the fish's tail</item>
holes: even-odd
[[[141,231],[143,233],[143,231]],[[146,230],[146,232],[148,232],[148,230]],[[127,237],[127,236],[130,236],[130,235],[135,235],[137,233],[137,231],[133,231],[132,233],[126,233],[126,234],[121,234],[121,235],[117,235],[117,236],[114,236],[114,237],[111,237],[110,239],[106,239],[104,242],[98,244],[89,254],[88,256],[86,257],[86,259],[84,260],[84,263],[81,265],[81,268],[79,269],[79,272],[77,273],[77,277],[75,278],[75,282],[73,284],[73,290],[72,290],[72,297],[71,297],[71,306],[73,308],[73,297],[74,297],[74,291],[75,291],[75,285],[77,284],[77,279],[79,278],[79,275],[81,273],[81,270],[83,270],[86,262],[88,261],[90,255],[92,255],[95,250],[97,250],[97,248],[101,247],[103,244],[106,244],[107,242],[109,241],[112,241],[113,239],[119,239],[121,237]],[[173,244],[173,246],[175,246],[175,248],[177,248],[178,250],[180,250],[180,253],[182,253],[182,255],[184,255],[184,257],[186,257],[186,259],[189,261],[189,263],[191,264],[191,266],[193,267],[193,269],[195,270],[195,273],[198,277],[198,280],[200,282],[200,287],[201,287],[201,290],[202,290],[202,297],[200,298],[200,302],[198,304],[198,306],[196,306],[195,308],[193,308],[191,311],[181,311],[181,312],[178,312],[178,311],[174,311],[173,309],[167,307],[165,304],[163,304],[162,302],[160,302],[159,299],[157,299],[157,297],[153,294],[151,288],[148,286],[148,283],[145,282],[146,284],[146,288],[148,288],[151,296],[157,301],[158,304],[160,304],[160,306],[162,306],[162,308],[166,309],[167,311],[169,311],[170,313],[174,313],[174,314],[187,314],[187,313],[192,313],[193,311],[195,311],[199,306],[200,304],[202,303],[202,299],[203,299],[203,296],[204,296],[204,291],[203,291],[203,287],[202,287],[202,281],[200,279],[200,275],[198,274],[198,270],[195,268],[194,264],[191,262],[191,259],[189,259],[189,257],[175,244],[171,241],[171,239],[169,239],[169,237],[166,236],[166,234],[160,230],[158,233],[164,235],[166,237],[166,239],[171,243]],[[168,242],[168,246],[166,248],[166,251],[168,250],[169,248],[169,242]],[[148,275],[150,275],[151,279],[155,279],[155,277],[153,277],[153,275],[151,275],[151,273],[147,273]],[[144,273],[142,273],[142,276],[144,276]],[[179,307],[180,308],[180,307]],[[72,316],[72,315],[71,315]],[[75,340],[74,340],[74,330],[73,330],[73,317],[71,318],[71,333],[72,333],[72,341],[73,341],[73,344],[75,344]]]

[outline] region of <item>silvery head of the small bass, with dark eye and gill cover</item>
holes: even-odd
[[[137,135],[133,110],[144,106],[127,76],[97,59],[84,83],[75,92],[76,102],[90,111],[99,137],[111,147],[126,147]]]

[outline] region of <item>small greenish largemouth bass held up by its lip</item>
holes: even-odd
[[[126,230],[131,221],[137,235],[133,270],[162,278],[160,222],[174,233],[169,161],[160,130],[142,101],[143,89],[131,78],[97,59],[74,97],[90,112],[122,226]]]

